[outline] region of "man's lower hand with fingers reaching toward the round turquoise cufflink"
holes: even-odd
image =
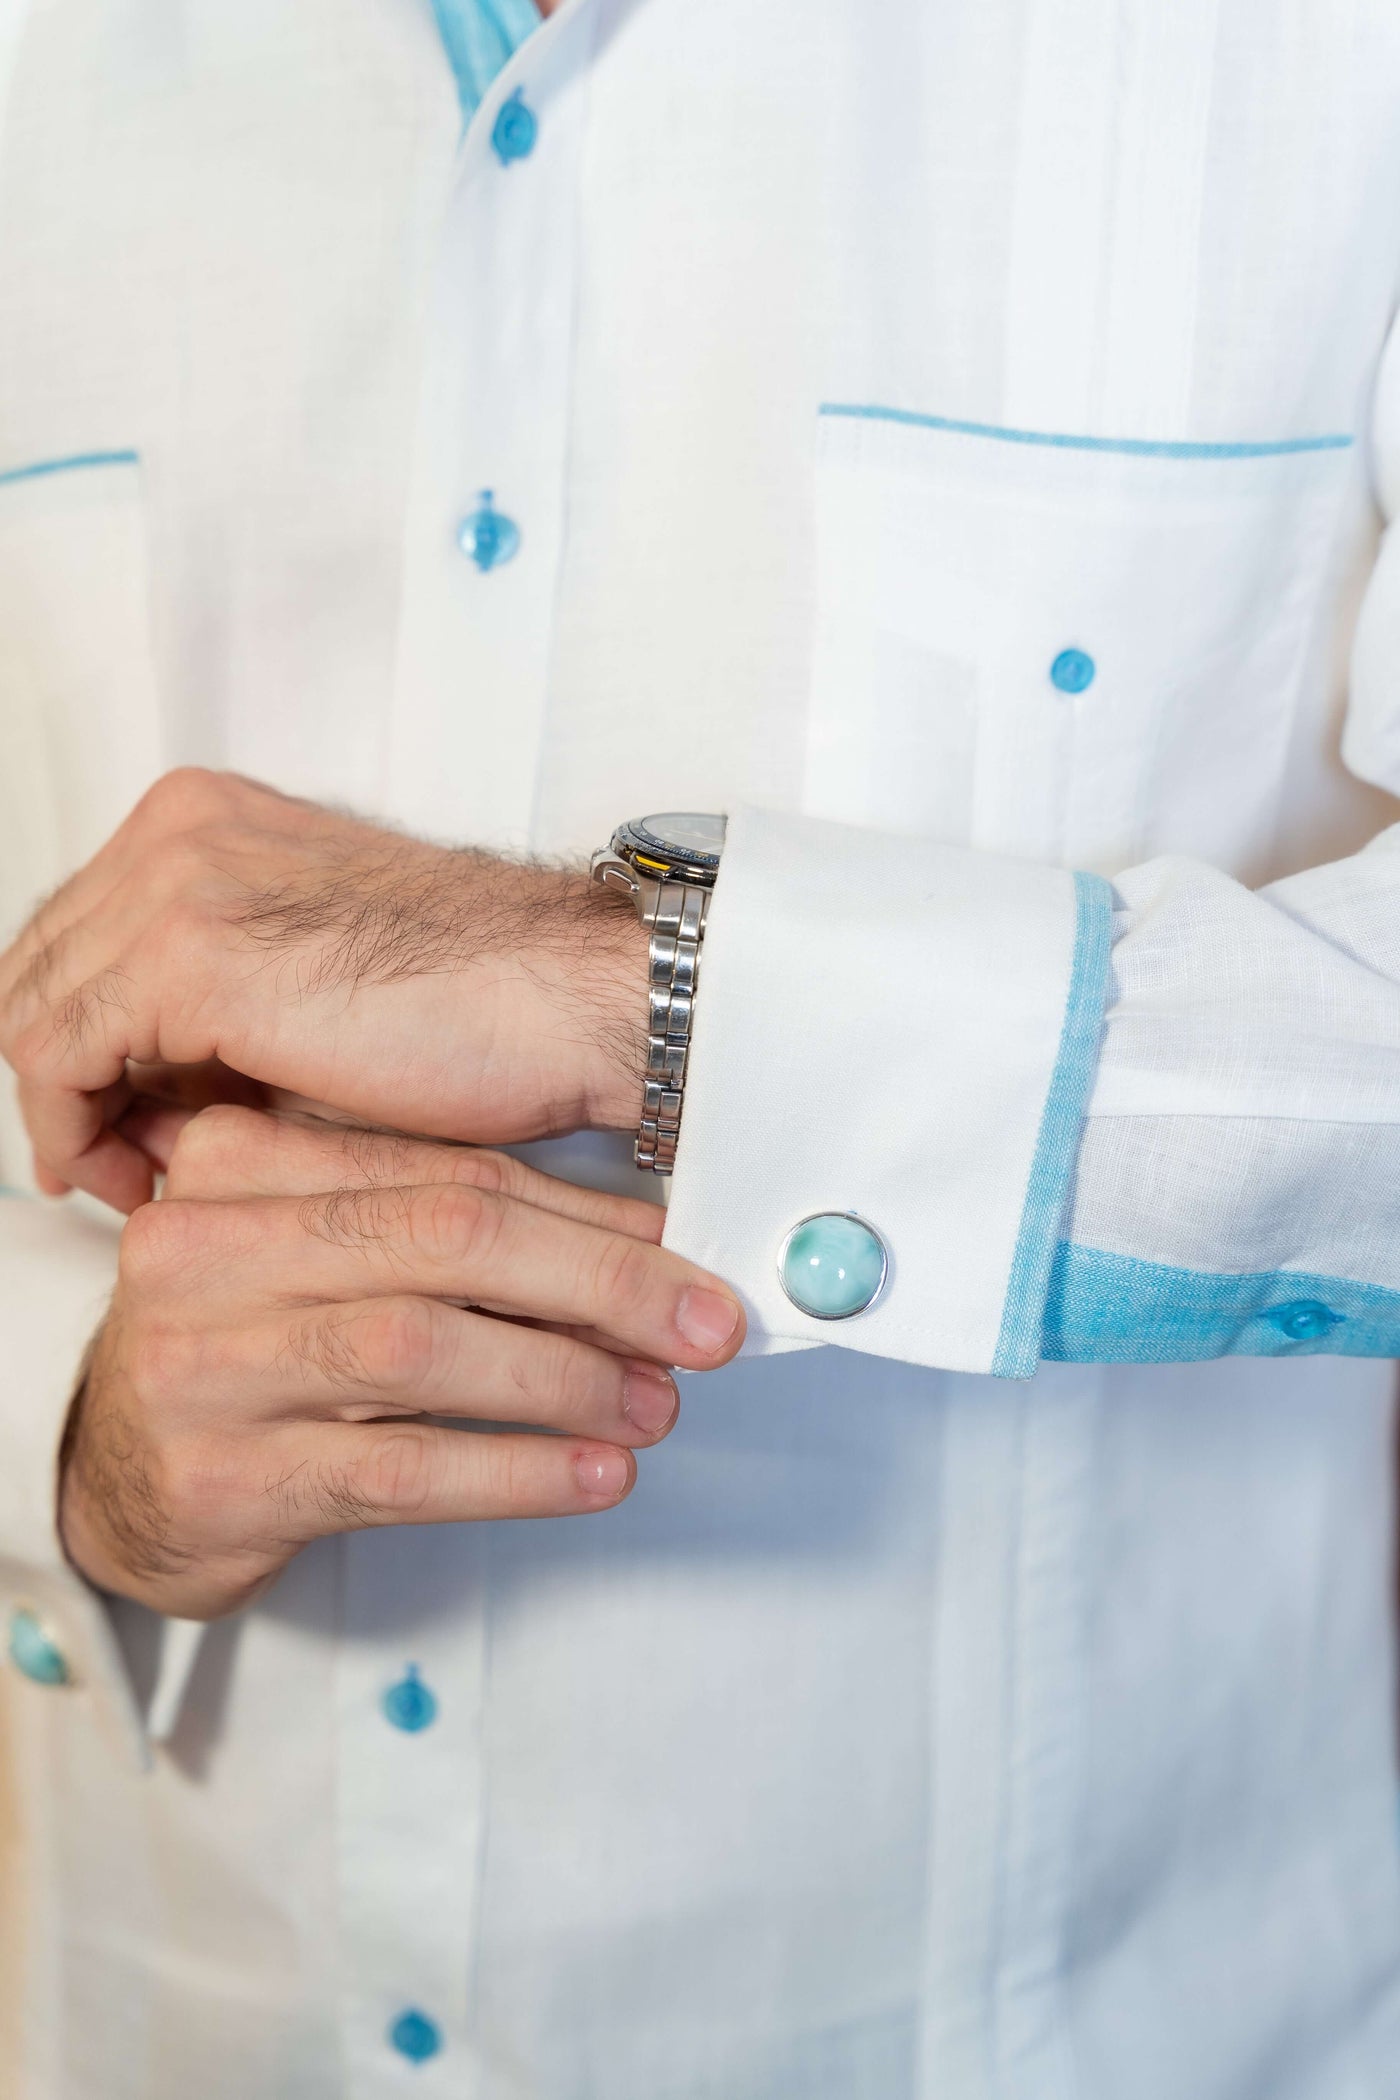
[[[172,1119],[147,1121],[162,1157]],[[613,1508],[676,1420],[659,1365],[743,1336],[659,1231],[497,1153],[206,1109],[122,1237],[65,1438],[69,1558],[210,1619],[325,1533]]]

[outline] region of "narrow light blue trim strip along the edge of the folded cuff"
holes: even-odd
[[[1064,1002],[1060,1052],[1035,1140],[1026,1201],[1001,1310],[993,1378],[1031,1378],[1041,1359],[1041,1315],[1064,1197],[1079,1155],[1083,1111],[1094,1086],[1098,1037],[1108,1000],[1112,888],[1102,876],[1075,876],[1075,960]]]

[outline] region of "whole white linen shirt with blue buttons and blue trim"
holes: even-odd
[[[730,811],[667,1239],[749,1344],[617,1512],[199,1640],[52,1533],[115,1226],[0,1203],[6,2092],[1394,2100],[1400,15],[458,32],[15,17],[0,903],[187,760]]]

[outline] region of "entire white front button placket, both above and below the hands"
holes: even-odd
[[[565,0],[466,116],[430,284],[384,806],[474,844],[525,844],[535,800],[592,17],[592,0]],[[348,2100],[485,2092],[472,1974],[489,1812],[487,1554],[489,1529],[470,1525],[344,1541]]]

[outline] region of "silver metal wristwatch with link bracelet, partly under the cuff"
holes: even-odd
[[[724,817],[638,817],[621,823],[590,863],[594,882],[625,890],[651,928],[646,1092],[634,1159],[653,1174],[670,1174],[676,1166],[691,1012],[722,850]]]

